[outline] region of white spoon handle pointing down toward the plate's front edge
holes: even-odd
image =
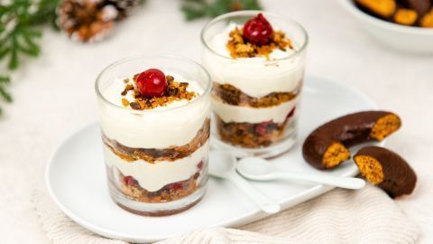
[[[255,190],[253,186],[239,174],[230,174],[228,180],[235,183],[239,189],[246,193],[254,202],[259,204],[264,212],[276,213],[281,210],[280,204],[273,202],[267,196],[263,195],[262,192]]]

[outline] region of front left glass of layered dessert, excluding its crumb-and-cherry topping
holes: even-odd
[[[198,96],[180,106],[144,110],[109,99],[106,91],[114,82],[150,68],[193,80]],[[207,70],[182,58],[137,56],[116,61],[99,74],[96,91],[107,183],[117,205],[161,216],[200,201],[208,178],[210,90]]]

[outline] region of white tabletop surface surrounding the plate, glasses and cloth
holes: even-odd
[[[388,147],[419,176],[416,191],[396,201],[419,223],[420,243],[433,243],[433,56],[389,50],[364,33],[336,1],[266,0],[265,9],[302,23],[310,37],[307,73],[363,90],[380,108],[401,115]],[[136,53],[200,60],[206,20],[186,23],[180,1],[149,0],[97,44],[69,41],[47,28],[41,57],[14,75],[14,103],[0,119],[0,242],[46,243],[32,210],[32,191],[56,145],[97,120],[94,82],[107,64]],[[318,111],[319,113],[320,111]]]

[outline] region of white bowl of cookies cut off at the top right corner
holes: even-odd
[[[340,4],[386,46],[433,54],[433,1],[340,0]]]

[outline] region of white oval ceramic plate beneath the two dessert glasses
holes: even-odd
[[[299,143],[272,161],[281,169],[318,174],[321,172],[306,164],[301,155],[301,142],[309,132],[329,119],[376,108],[362,92],[318,78],[306,79],[301,107]],[[357,168],[348,162],[323,174],[353,176]],[[108,195],[97,123],[79,129],[57,148],[45,176],[51,197],[61,211],[88,230],[112,239],[156,241],[191,230],[241,225],[266,216],[234,185],[213,178],[203,200],[188,211],[167,217],[143,217],[124,211]],[[253,186],[280,202],[283,209],[332,189],[287,181],[253,183]]]

